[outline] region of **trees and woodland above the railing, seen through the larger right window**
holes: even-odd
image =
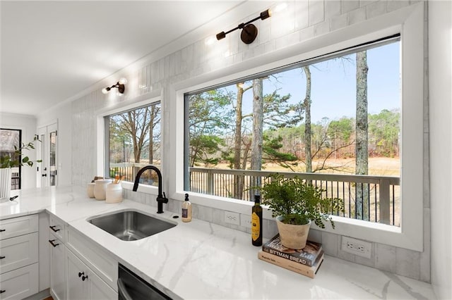
[[[349,116],[333,120],[311,119],[311,104],[316,101],[311,70],[319,69],[319,65],[299,68],[299,83],[304,85],[302,99],[283,93],[301,89],[301,85],[290,89],[278,85],[284,72],[190,95],[190,166],[215,167],[228,162],[235,170],[261,170],[265,163],[278,163],[297,172],[347,172],[328,164],[328,159],[355,158],[355,174],[366,175],[369,157],[398,157],[399,104],[379,113],[368,112],[367,51],[354,56],[333,58],[351,65],[349,69],[354,64],[356,73],[356,107]],[[263,86],[272,83],[273,90],[266,89],[268,93],[264,94]],[[313,165],[313,161],[317,163]],[[241,182],[237,189],[242,189]]]

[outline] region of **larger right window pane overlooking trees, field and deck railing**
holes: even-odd
[[[187,93],[185,189],[249,201],[296,174],[341,216],[400,226],[400,77],[396,35]]]

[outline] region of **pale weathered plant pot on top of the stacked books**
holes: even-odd
[[[311,221],[305,225],[285,224],[280,221],[281,217],[276,218],[276,225],[281,237],[281,244],[290,249],[303,249],[308,239],[309,227]]]

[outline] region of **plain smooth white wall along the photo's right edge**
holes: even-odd
[[[429,1],[432,285],[452,299],[452,4]]]

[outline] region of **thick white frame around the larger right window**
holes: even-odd
[[[227,68],[200,75],[167,87],[167,101],[162,111],[175,113],[171,123],[165,120],[167,142],[172,145],[165,153],[166,179],[169,180],[169,197],[184,199],[184,94],[197,89],[220,85],[239,77],[246,77],[282,65],[356,46],[375,39],[400,33],[401,110],[402,137],[400,178],[402,204],[400,227],[369,223],[362,220],[337,218],[335,230],[325,231],[365,239],[370,242],[423,251],[423,127],[424,127],[424,4],[415,4],[398,11],[371,18],[357,25],[336,30],[306,42],[288,46]],[[174,101],[175,99],[175,101]],[[166,109],[165,109],[166,108]],[[237,213],[249,214],[249,202],[224,199],[218,196],[191,193],[194,204]],[[271,213],[264,210],[264,218]],[[315,227],[315,225],[314,225]],[[318,227],[315,227],[319,229]],[[321,229],[319,229],[321,230]]]

